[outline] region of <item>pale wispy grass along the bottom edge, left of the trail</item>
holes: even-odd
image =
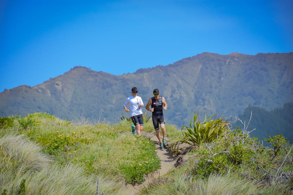
[[[78,165],[67,164],[44,169],[28,178],[27,191],[31,194],[92,194],[99,189],[107,194],[127,194],[121,180],[104,177],[86,176]]]

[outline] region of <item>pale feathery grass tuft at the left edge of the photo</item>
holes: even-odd
[[[46,168],[51,158],[41,152],[38,144],[23,138],[22,135],[5,135],[0,138],[0,186],[11,188],[15,177]]]

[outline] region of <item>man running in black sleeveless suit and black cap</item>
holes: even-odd
[[[159,96],[160,94],[159,89],[154,89],[153,94],[154,94],[154,97],[149,99],[146,109],[152,112],[152,119],[153,119],[153,125],[156,130],[156,136],[159,139],[160,148],[163,149],[164,146],[168,145],[165,139],[166,129],[165,129],[165,118],[163,115],[163,110],[165,111],[167,109],[167,103],[164,97]],[[150,105],[151,105],[151,109],[149,108]],[[163,141],[161,140],[159,124],[162,130]]]

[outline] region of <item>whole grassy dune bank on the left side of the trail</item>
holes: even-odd
[[[126,183],[161,167],[154,143],[133,136],[129,122],[78,126],[40,113],[13,120],[0,129],[0,194],[20,185],[28,194],[91,194],[98,178],[101,192],[125,194]]]

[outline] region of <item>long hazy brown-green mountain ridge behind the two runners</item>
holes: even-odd
[[[0,117],[47,112],[62,119],[85,118],[119,122],[131,88],[144,104],[154,88],[164,96],[167,122],[189,124],[193,113],[242,114],[248,106],[266,110],[293,101],[293,52],[245,55],[202,53],[166,66],[111,75],[74,67],[34,87],[22,85],[0,93]],[[143,109],[144,112],[147,112]],[[151,114],[151,113],[149,113]]]

